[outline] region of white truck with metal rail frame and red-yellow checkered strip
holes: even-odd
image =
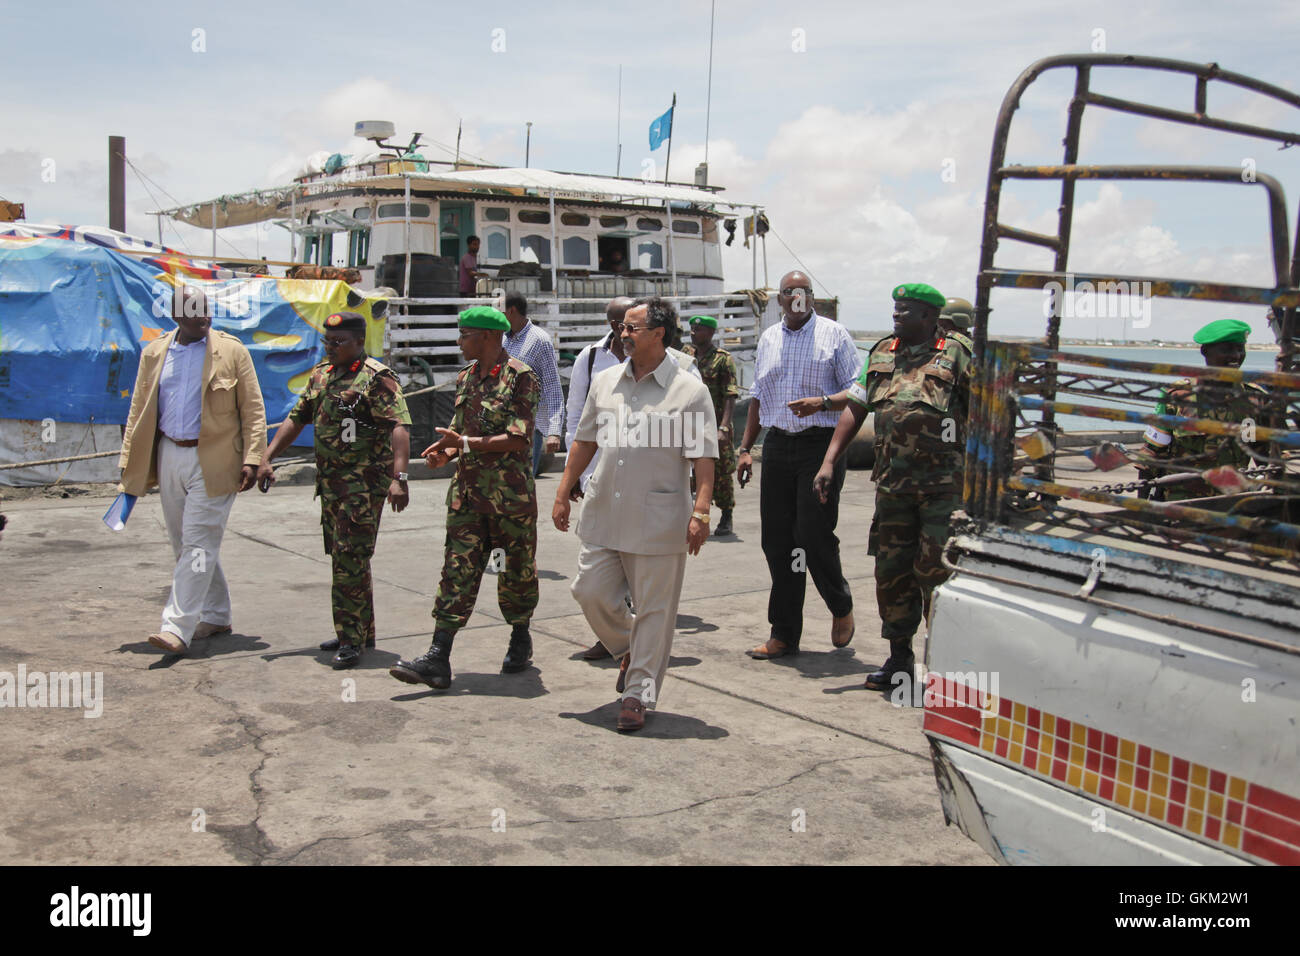
[[[1091,81],[1110,69],[1182,75],[1193,109],[1092,92]],[[1075,79],[1063,163],[1005,165],[1022,94],[1053,70]],[[1248,179],[1235,168],[1078,163],[1088,105],[1296,139],[1294,131],[1212,114],[1206,90],[1217,83],[1300,108],[1296,95],[1214,64],[1062,56],[1026,70],[998,116],[978,282],[979,382],[967,429],[965,514],[945,554],[953,574],[931,606],[924,732],[946,819],[1001,862],[1300,864],[1300,431],[1294,424],[1300,375],[1292,351],[1300,259],[1288,242],[1284,196],[1262,172]],[[1061,182],[1056,235],[998,221],[1001,187],[1018,178]],[[1261,189],[1271,219],[1273,287],[1082,273],[1074,281],[1096,287],[1149,278],[1156,295],[1271,306],[1282,371],[1062,354],[1061,295],[1043,346],[996,341],[992,289],[1039,290],[1067,280],[1080,178]],[[1053,250],[1054,268],[998,268],[1000,239]],[[1161,386],[1184,376],[1254,382],[1284,410],[1274,424],[1290,419],[1290,431],[1257,431],[1268,460],[1239,475],[1247,490],[1170,505],[1139,496],[1158,481],[1186,480],[1178,475],[1128,481],[1119,471],[1058,467],[1057,414],[1217,428],[1252,441],[1243,436],[1253,421],[1174,423],[1157,415]],[[1117,395],[1127,405],[1106,407]],[[1026,414],[1039,418],[1018,427]],[[1032,457],[1018,454],[1018,431],[1045,432],[1048,441]]]

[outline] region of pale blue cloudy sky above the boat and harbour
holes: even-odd
[[[710,3],[70,3],[5,5],[10,82],[0,94],[0,198],[31,221],[107,221],[107,138],[125,135],[148,177],[127,172],[127,230],[157,238],[147,213],[287,182],[317,151],[358,152],[358,120],[390,120],[434,144],[502,165],[612,174],[623,70],[623,174],[649,151],[650,121],[677,94],[672,178],[705,155]],[[1043,56],[1104,49],[1218,62],[1300,90],[1294,0],[1102,0],[1088,5],[763,3],[718,0],[710,179],[763,204],[775,230],[772,285],[802,263],[850,328],[885,328],[889,290],[927,281],[974,298],[993,120],[1015,77]],[[495,47],[495,49],[494,49]],[[1072,79],[1058,72],[1024,98],[1010,161],[1058,163]],[[1093,88],[1191,108],[1192,82],[1098,70]],[[1210,112],[1300,131],[1300,111],[1212,86]],[[438,146],[429,156],[446,156]],[[1253,164],[1288,189],[1295,230],[1300,150],[1096,111],[1080,161]],[[49,181],[52,179],[52,181]],[[152,191],[152,195],[151,195]],[[1002,220],[1054,232],[1057,190],[1017,183]],[[1072,265],[1273,285],[1258,186],[1088,183],[1078,190]],[[168,225],[164,241],[204,251],[207,233]],[[287,254],[283,230],[225,230],[226,255]],[[228,242],[229,245],[228,245]],[[797,256],[797,260],[796,260]],[[1004,243],[998,264],[1043,268],[1045,252]],[[750,285],[740,242],[728,287]],[[759,263],[759,284],[763,281]],[[1112,303],[1115,304],[1115,303]],[[994,293],[993,328],[1041,329],[1041,295]],[[1066,334],[1190,339],[1225,315],[1260,310],[1156,300],[1150,324],[1121,315],[1066,321]]]

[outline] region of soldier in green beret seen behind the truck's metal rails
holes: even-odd
[[[1201,347],[1206,365],[1240,368],[1245,362],[1245,339],[1249,334],[1248,323],[1219,319],[1200,328],[1192,336],[1192,341]],[[1156,414],[1234,424],[1249,420],[1265,425],[1271,423],[1268,399],[1269,393],[1254,384],[1197,382],[1192,378],[1179,378],[1161,393]],[[1247,446],[1238,438],[1202,434],[1186,428],[1167,429],[1154,424],[1148,425],[1143,434],[1139,457],[1150,462],[1139,464],[1138,475],[1143,480],[1176,472],[1201,472],[1218,466],[1249,468],[1252,464]],[[1143,492],[1148,493],[1152,501],[1186,501],[1218,494],[1200,479],[1148,486]]]

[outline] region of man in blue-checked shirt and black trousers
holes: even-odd
[[[835,479],[823,505],[812,489],[812,477],[835,434],[840,415],[831,411],[829,395],[853,385],[862,359],[848,330],[812,308],[812,282],[802,272],[788,272],[780,286],[781,321],[758,342],[754,362],[754,401],[749,403],[745,437],[737,457],[736,476],[744,488],[754,470],[750,447],[760,428],[763,475],[759,480],[759,515],[763,523],[763,554],[772,576],[767,598],[771,635],[749,652],[758,661],[798,653],[803,635],[805,568],[835,619],[831,643],[837,648],[853,640],[853,594],[840,567],[840,489],[845,459],[836,464]],[[820,395],[820,407],[809,410],[800,399]]]

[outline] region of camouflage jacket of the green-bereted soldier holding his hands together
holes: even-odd
[[[486,378],[478,377],[477,362],[460,369],[452,431],[471,437],[511,434],[525,438],[529,446],[504,454],[471,451],[458,455],[456,475],[447,488],[448,509],[498,515],[537,514],[532,440],[541,397],[537,372],[519,359],[507,358],[493,365]]]

